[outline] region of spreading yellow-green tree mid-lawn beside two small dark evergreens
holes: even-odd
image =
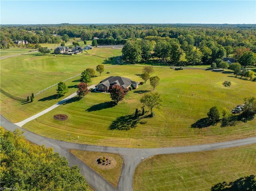
[[[140,98],[140,102],[144,106],[147,106],[150,108],[150,115],[152,116],[152,109],[155,108],[160,108],[163,100],[161,98],[161,95],[157,92],[155,93],[147,93],[142,98]]]

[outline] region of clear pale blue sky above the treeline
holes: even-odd
[[[256,24],[255,0],[0,0],[1,24]]]

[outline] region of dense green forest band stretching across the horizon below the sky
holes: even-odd
[[[82,41],[97,37],[98,44],[125,43],[123,56],[130,63],[158,57],[163,62],[178,65],[183,53],[192,65],[215,62],[218,65],[220,60],[217,59],[234,57],[247,67],[256,60],[254,24],[2,25],[0,40],[1,48],[35,47],[37,43],[67,41],[67,37],[78,37]],[[16,40],[26,40],[29,44],[15,45]]]

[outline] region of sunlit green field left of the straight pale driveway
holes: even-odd
[[[3,59],[0,68],[1,88],[14,96],[26,98],[31,93],[36,94],[53,84],[81,73],[88,67],[96,68],[99,63],[104,63],[105,67],[111,66],[104,60],[107,57],[119,55],[120,52],[120,49],[95,48],[72,56],[31,53]],[[96,75],[99,73],[96,72]],[[79,77],[66,81],[70,89],[66,96],[76,92],[78,79]],[[101,78],[93,79],[96,79],[94,83],[97,84]],[[36,96],[33,104],[20,103],[1,94],[1,114],[13,122],[23,120],[61,100],[62,98],[56,97],[56,89],[57,86],[52,87]]]

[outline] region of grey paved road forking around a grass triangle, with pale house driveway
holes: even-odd
[[[90,87],[89,87],[90,88]],[[182,146],[182,147],[170,147],[170,148],[152,148],[152,149],[143,149],[143,148],[117,148],[117,147],[105,147],[105,146],[96,146],[96,145],[84,145],[77,143],[64,142],[60,140],[54,140],[39,136],[32,132],[22,129],[22,125],[25,123],[45,114],[46,112],[56,108],[58,105],[66,102],[68,99],[74,97],[76,94],[72,94],[67,98],[61,100],[52,107],[23,120],[22,122],[13,124],[4,118],[2,115],[0,117],[0,125],[6,130],[14,131],[16,128],[24,131],[24,136],[30,142],[33,142],[38,145],[45,145],[46,147],[54,148],[55,152],[60,153],[61,156],[65,156],[69,165],[79,165],[82,175],[86,177],[88,184],[96,191],[132,191],[132,179],[134,170],[137,165],[144,159],[159,155],[159,154],[175,154],[175,153],[186,153],[186,152],[199,152],[199,151],[208,151],[216,150],[221,148],[230,148],[236,146],[243,146],[248,144],[256,144],[256,137],[234,140],[228,142],[220,142],[213,144],[204,144],[204,145],[195,145],[195,146]],[[70,149],[83,150],[83,151],[94,151],[94,152],[106,152],[106,153],[115,153],[120,154],[123,157],[124,163],[122,166],[121,175],[119,178],[117,189],[113,187],[108,181],[102,178],[98,173],[88,167],[80,159],[76,158],[73,154],[69,152]]]

